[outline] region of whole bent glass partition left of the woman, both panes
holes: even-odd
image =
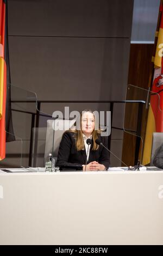
[[[16,153],[17,166],[41,169],[45,167],[45,147],[47,136],[47,120],[52,120],[52,112],[46,113],[41,108],[41,101],[37,99],[35,92],[23,89],[10,84],[11,88],[11,108],[12,123],[15,142],[8,143],[10,150],[15,151],[15,145],[21,142],[21,154]],[[48,141],[50,149],[53,147],[53,139]],[[20,151],[20,150],[19,150]],[[50,152],[51,151],[51,152]],[[48,153],[52,153],[50,150]],[[8,156],[5,161],[7,161]],[[9,160],[9,159],[8,159]],[[32,167],[32,168],[31,168]]]

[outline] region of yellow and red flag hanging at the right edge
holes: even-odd
[[[151,162],[153,132],[163,132],[163,1],[161,0],[154,46],[154,76],[148,112],[143,164]],[[158,96],[159,95],[159,96]]]

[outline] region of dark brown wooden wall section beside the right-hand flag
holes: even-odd
[[[153,47],[154,47],[153,44],[131,44],[128,84],[133,84],[134,86],[148,89],[149,77],[153,75],[153,63],[151,61],[152,54],[153,54]],[[140,89],[138,90],[140,93]],[[128,126],[131,127],[133,125],[132,120],[137,119],[136,107],[133,106],[132,109],[127,109],[127,110],[128,110],[128,113],[132,113],[132,116],[130,117],[129,114],[126,115],[126,121],[127,121],[126,126],[128,124]],[[141,137],[143,139],[143,142],[145,139],[147,117],[148,117],[148,109],[143,111],[143,118],[142,118],[142,124],[141,124],[142,125]],[[134,165],[135,142],[136,142],[136,137],[134,135],[130,135],[129,133],[124,132],[122,161],[127,163],[128,165]]]

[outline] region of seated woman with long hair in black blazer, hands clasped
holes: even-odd
[[[70,166],[84,171],[106,170],[110,164],[109,153],[95,141],[99,138],[107,147],[108,138],[101,136],[100,130],[95,130],[96,120],[91,110],[82,113],[80,114],[80,129],[66,131],[62,136],[56,165]],[[91,139],[90,146],[86,143],[87,138]],[[86,154],[87,164],[85,166]]]

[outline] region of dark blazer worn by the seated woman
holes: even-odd
[[[76,136],[76,134],[71,131],[66,131],[62,136],[56,166],[71,166],[76,169],[83,169],[82,164],[85,164],[86,162],[86,151],[85,149],[77,151],[76,140],[74,136]],[[99,135],[99,139],[101,139],[105,147],[108,148],[108,137]],[[93,140],[90,148],[89,160],[87,163],[97,161],[98,163],[104,164],[106,169],[108,169],[110,165],[109,152],[103,148],[102,145],[99,145],[98,150],[92,150],[92,147]]]

